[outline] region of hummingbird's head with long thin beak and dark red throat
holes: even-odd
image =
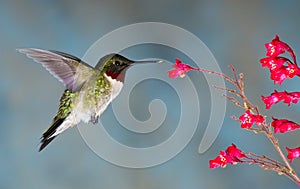
[[[124,82],[125,73],[127,68],[132,65],[140,64],[140,63],[159,63],[162,60],[143,60],[143,61],[133,61],[125,58],[120,54],[108,54],[102,57],[98,64],[96,65],[96,69],[102,70],[107,76],[110,76],[112,79],[116,79],[118,81]]]

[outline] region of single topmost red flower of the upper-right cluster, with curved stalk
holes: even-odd
[[[293,58],[294,63],[296,64],[296,55],[294,51],[288,44],[286,44],[283,41],[280,41],[278,35],[276,35],[276,37],[270,43],[266,43],[265,47],[267,49],[266,56],[276,57],[282,53],[288,52]]]

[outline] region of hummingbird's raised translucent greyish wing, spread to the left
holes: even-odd
[[[17,49],[34,61],[41,63],[67,89],[79,90],[95,69],[72,55],[41,49]]]

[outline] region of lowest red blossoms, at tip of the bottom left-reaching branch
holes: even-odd
[[[209,168],[225,168],[227,164],[235,165],[243,162],[241,158],[246,157],[247,156],[240,149],[238,149],[235,144],[232,144],[226,149],[225,152],[220,151],[220,155],[218,155],[215,159],[209,160]]]

